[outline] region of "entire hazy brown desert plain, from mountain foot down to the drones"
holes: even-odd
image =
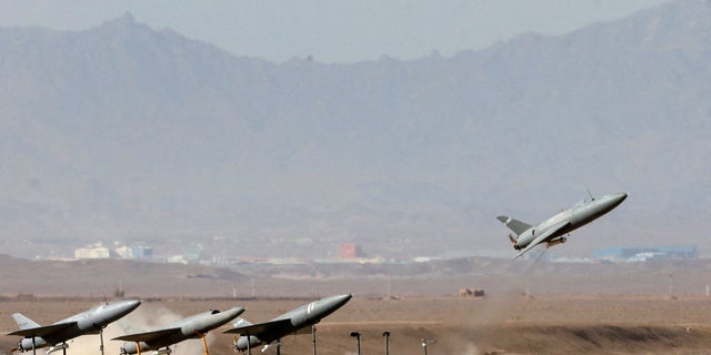
[[[473,266],[472,266],[473,265]],[[525,264],[477,261],[444,265],[264,266],[238,273],[204,266],[127,262],[28,262],[0,258],[0,329],[17,329],[21,312],[40,324],[116,300],[117,285],[142,305],[104,333],[110,338],[168,325],[207,310],[247,308],[263,322],[321,296],[353,298],[317,325],[318,354],[711,354],[711,263],[630,265]],[[411,266],[408,266],[411,267]],[[336,274],[336,268],[339,268]],[[261,273],[261,274],[260,274]],[[481,287],[484,297],[461,298],[458,287]],[[104,298],[106,295],[106,298]],[[213,355],[232,354],[232,336],[209,334]],[[19,337],[0,337],[9,353]],[[310,335],[282,339],[281,354],[313,354]],[[261,349],[261,348],[260,348]],[[259,349],[253,352],[259,354]],[[274,354],[269,349],[267,354]],[[44,352],[41,352],[44,354]],[[70,342],[68,354],[99,354],[99,337]],[[198,339],[177,355],[202,354]]]

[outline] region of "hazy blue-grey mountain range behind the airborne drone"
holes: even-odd
[[[628,192],[557,253],[709,246],[711,6],[564,36],[353,64],[229,54],[130,13],[0,28],[0,245],[103,241],[216,256],[509,255],[539,222]]]

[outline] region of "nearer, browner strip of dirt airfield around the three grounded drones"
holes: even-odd
[[[12,331],[11,314],[22,312],[41,324],[84,311],[101,300],[7,300],[0,303],[0,326]],[[106,354],[119,354],[122,326],[150,329],[209,308],[247,308],[250,321],[267,321],[308,300],[146,300],[104,332]],[[318,354],[354,354],[361,334],[362,354],[422,354],[421,339],[435,339],[428,354],[711,354],[711,301],[705,297],[353,297],[317,325]],[[210,333],[210,354],[232,354],[232,337]],[[2,337],[2,353],[18,337]],[[312,354],[310,335],[282,339],[281,354]],[[261,348],[260,348],[261,349]],[[274,353],[273,349],[268,351]],[[42,352],[43,353],[43,352]],[[99,337],[70,343],[69,354],[98,354]],[[259,351],[254,351],[259,354]],[[177,355],[202,354],[200,341],[183,342]]]

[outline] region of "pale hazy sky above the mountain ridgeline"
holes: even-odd
[[[449,57],[515,34],[560,34],[669,0],[0,0],[0,26],[82,30],[130,11],[237,55],[357,62]]]

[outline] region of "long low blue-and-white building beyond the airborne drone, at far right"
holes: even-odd
[[[644,262],[651,260],[691,260],[699,257],[695,246],[609,247],[594,251],[595,260],[611,262]]]

